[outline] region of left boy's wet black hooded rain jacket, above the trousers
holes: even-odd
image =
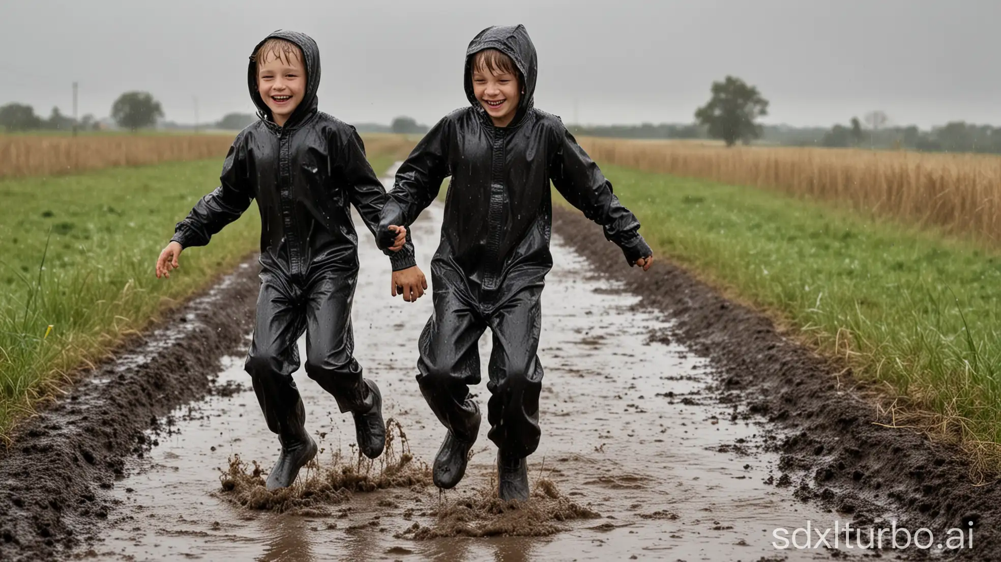
[[[251,57],[247,85],[260,120],[237,135],[223,162],[220,185],[177,223],[173,239],[185,247],[204,245],[256,200],[264,269],[292,280],[324,270],[356,271],[357,234],[350,205],[375,234],[387,200],[385,188],[365,159],[354,127],[317,110],[316,42],[293,31],[276,31],[264,40],[273,37],[291,41],[302,51],[306,67],[302,101],[284,126],[278,126],[257,92],[256,63]],[[384,249],[391,234],[380,231],[376,238],[394,270],[413,264],[409,241],[393,253]]]

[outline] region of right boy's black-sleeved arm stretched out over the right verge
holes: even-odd
[[[581,148],[562,124],[550,160],[550,177],[560,193],[584,215],[602,225],[605,237],[626,254],[630,266],[644,270],[654,262],[654,252],[640,234],[640,221],[623,206],[598,164]]]

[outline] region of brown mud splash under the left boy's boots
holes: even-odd
[[[219,494],[252,510],[323,517],[333,515],[332,506],[349,502],[354,493],[389,488],[423,490],[433,485],[430,467],[413,458],[402,426],[392,418],[386,420],[385,451],[375,460],[356,454],[351,462],[337,449],[328,462],[321,462],[325,437],[321,435],[321,453],[303,467],[292,486],[281,490],[264,487],[266,472],[257,461],[248,464],[239,454],[233,455],[229,467],[220,469]]]

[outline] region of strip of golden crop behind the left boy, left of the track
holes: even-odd
[[[0,135],[0,178],[62,175],[111,166],[219,158],[232,144],[230,134]],[[362,135],[368,154],[404,158],[416,138]]]

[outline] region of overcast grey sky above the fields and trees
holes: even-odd
[[[999,0],[0,0],[0,104],[104,117],[147,90],[167,119],[250,112],[250,49],[295,29],[319,44],[320,108],[350,122],[433,123],[466,103],[462,55],[492,24],[539,50],[536,105],[583,123],[690,122],[727,74],[769,123],[1001,125]],[[575,109],[576,107],[576,109]]]

